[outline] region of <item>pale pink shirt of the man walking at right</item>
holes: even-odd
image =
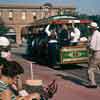
[[[100,32],[95,30],[90,40],[90,48],[92,50],[100,50]]]

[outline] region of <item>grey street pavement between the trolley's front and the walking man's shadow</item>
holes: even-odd
[[[83,66],[83,64],[81,64],[80,66],[66,65],[64,68],[60,69],[59,71],[65,74],[66,73],[71,74],[72,76],[77,77],[79,80],[83,80],[87,84],[88,82],[87,70],[88,70],[88,67],[86,67],[86,64],[85,64],[85,67]],[[96,73],[96,81],[97,81],[98,86],[100,86],[100,73]],[[77,82],[75,81],[75,83]]]

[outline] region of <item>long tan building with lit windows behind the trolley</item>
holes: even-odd
[[[20,45],[22,43],[21,32],[30,23],[57,15],[59,12],[74,14],[75,10],[74,6],[52,5],[50,3],[43,5],[0,4],[0,17],[6,26],[9,27],[9,33],[16,33],[16,43]]]

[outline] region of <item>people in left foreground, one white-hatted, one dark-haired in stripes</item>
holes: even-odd
[[[57,90],[53,81],[42,93],[27,91],[19,92],[18,79],[24,74],[23,67],[12,59],[10,42],[6,37],[0,37],[0,100],[48,100]]]

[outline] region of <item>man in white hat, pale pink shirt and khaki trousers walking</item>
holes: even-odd
[[[100,71],[100,32],[98,31],[98,25],[95,22],[91,22],[90,31],[93,33],[91,36],[89,48],[92,54],[89,59],[88,75],[90,84],[88,88],[97,88],[95,81],[95,72]]]

